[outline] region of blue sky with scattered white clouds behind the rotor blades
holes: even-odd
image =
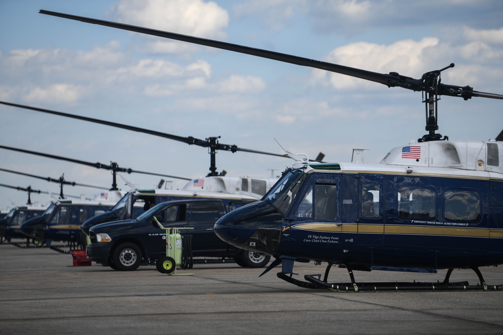
[[[366,163],[426,134],[422,93],[274,60],[39,14],[126,23],[421,78],[455,63],[442,82],[503,94],[499,0],[2,0],[0,100],[181,137],[327,162]],[[442,96],[438,133],[486,141],[503,129],[503,100]],[[207,148],[0,105],[0,145],[136,171],[204,177]],[[219,151],[229,176],[279,175],[293,161]],[[110,171],[0,149],[0,169],[111,187]],[[139,188],[159,176],[121,173]],[[185,181],[173,178],[174,188]],[[0,171],[0,184],[50,192],[59,185]],[[91,197],[101,189],[64,186]],[[0,209],[27,193],[0,187]],[[32,194],[41,205],[47,194]]]

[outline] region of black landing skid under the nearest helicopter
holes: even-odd
[[[335,292],[403,292],[403,291],[497,291],[503,290],[501,285],[487,285],[477,267],[471,268],[477,274],[480,284],[469,285],[467,281],[449,282],[449,278],[454,269],[449,269],[443,282],[371,282],[357,283],[353,275],[353,270],[348,265],[351,283],[328,283],[328,272],[332,263],[328,263],[323,280],[320,274],[305,275],[306,281],[292,277],[293,273],[278,272],[277,276],[294,285],[310,289],[328,289]]]

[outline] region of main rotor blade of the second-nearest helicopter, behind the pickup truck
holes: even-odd
[[[55,110],[44,109],[44,108],[39,108],[39,107],[27,106],[27,105],[22,105],[22,104],[7,102],[7,101],[0,101],[0,103],[8,105],[8,106],[13,106],[13,107],[41,111],[42,113],[59,115],[59,116],[66,117],[66,118],[83,120],[83,121],[98,123],[98,124],[102,124],[102,125],[106,125],[106,126],[110,126],[110,127],[116,127],[116,128],[131,130],[134,132],[150,134],[150,135],[159,136],[159,137],[163,137],[163,138],[167,138],[167,139],[171,139],[171,140],[175,140],[175,141],[179,141],[179,142],[184,142],[189,145],[196,145],[196,146],[200,146],[200,147],[204,147],[204,148],[212,147],[216,150],[225,150],[225,151],[231,151],[231,152],[244,151],[244,152],[250,152],[250,153],[255,153],[255,154],[263,154],[263,155],[270,155],[270,156],[277,156],[277,157],[286,157],[284,155],[269,153],[269,152],[265,152],[265,151],[239,148],[236,145],[217,143],[216,141],[212,141],[211,138],[206,139],[206,140],[200,140],[200,139],[196,139],[192,136],[181,137],[181,136],[156,132],[156,131],[149,130],[149,129],[143,129],[143,128],[138,128],[138,127],[133,127],[133,126],[128,126],[128,125],[123,125],[123,124],[119,124],[119,123],[115,123],[115,122],[103,121],[103,120],[98,120],[98,119],[93,119],[93,118],[81,117],[81,116],[73,115],[73,114],[67,114],[67,113],[63,113],[61,111],[55,111]]]

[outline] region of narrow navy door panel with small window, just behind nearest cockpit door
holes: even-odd
[[[382,247],[384,236],[384,177],[360,174],[358,183],[358,245]]]

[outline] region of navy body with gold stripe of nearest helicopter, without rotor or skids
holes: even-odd
[[[427,146],[417,144],[419,158],[398,157],[410,165],[299,163],[260,202],[218,220],[215,232],[237,247],[282,260],[356,270],[503,263],[503,174],[491,172],[499,164],[487,167],[493,158],[484,145],[473,169],[431,167],[428,163],[438,160],[431,155],[421,166]],[[392,156],[393,151],[385,159]],[[285,263],[283,272],[291,272],[293,262]]]

